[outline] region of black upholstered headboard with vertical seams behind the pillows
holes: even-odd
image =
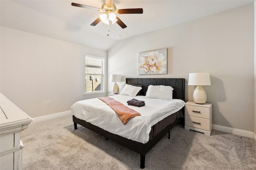
[[[164,85],[172,86],[172,98],[181,99],[185,101],[185,79],[184,78],[126,78],[126,84],[142,85],[142,92],[140,95],[145,96],[148,86]]]

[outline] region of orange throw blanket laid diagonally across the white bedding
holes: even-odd
[[[108,96],[106,97],[100,97],[98,98],[105,102],[108,106],[110,106],[118,115],[122,123],[125,125],[132,117],[140,116],[140,113],[137,111],[125,106],[124,104],[114,100],[113,98],[110,98]]]

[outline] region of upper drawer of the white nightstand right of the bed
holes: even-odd
[[[186,115],[210,119],[209,107],[186,105],[185,110]]]

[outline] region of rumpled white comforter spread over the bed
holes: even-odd
[[[92,123],[110,133],[140,143],[149,141],[149,133],[153,125],[185,106],[185,102],[178,99],[169,101],[145,98],[145,96],[130,97],[123,95],[110,97],[138,111],[141,116],[133,117],[126,125],[123,125],[116,112],[98,98],[76,102],[71,106],[72,114],[78,119]],[[146,106],[128,106],[127,101],[133,98],[145,101]]]

